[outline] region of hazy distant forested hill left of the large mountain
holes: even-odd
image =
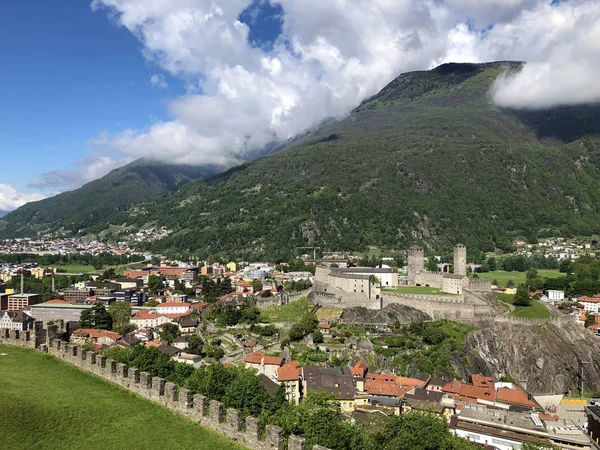
[[[79,189],[28,203],[7,214],[0,220],[0,238],[38,232],[77,233],[215,171],[208,166],[166,165],[140,159]]]

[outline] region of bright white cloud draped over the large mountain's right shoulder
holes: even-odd
[[[517,74],[497,80],[492,93],[500,106],[547,108],[600,102],[600,4],[544,5],[511,24],[537,49]]]

